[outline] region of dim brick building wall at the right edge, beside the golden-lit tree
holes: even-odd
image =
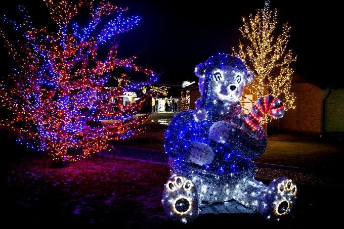
[[[289,109],[269,127],[314,135],[344,135],[344,88],[320,88],[294,75],[291,91],[295,109]]]

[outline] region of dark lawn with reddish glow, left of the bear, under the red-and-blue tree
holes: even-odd
[[[127,228],[167,220],[160,204],[166,167],[99,157],[58,169],[50,163],[31,156],[8,166],[1,204],[12,226]]]

